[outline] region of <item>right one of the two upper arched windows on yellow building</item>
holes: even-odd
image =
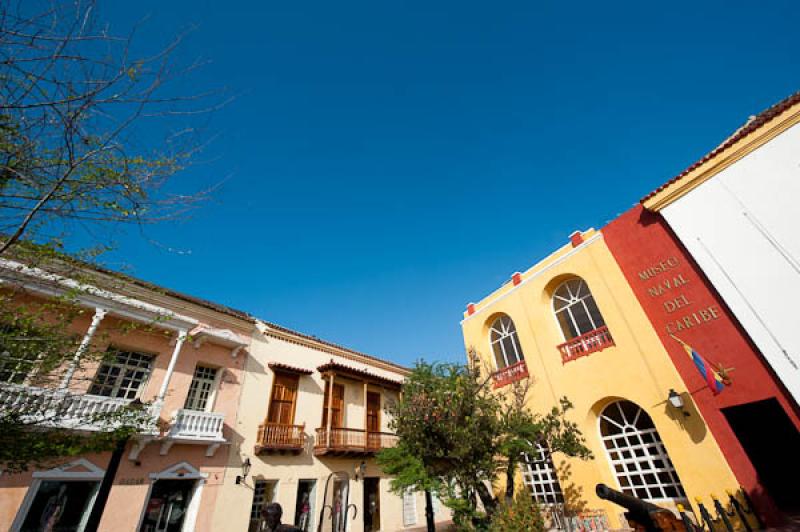
[[[553,310],[566,340],[605,325],[586,281],[581,278],[570,279],[556,288],[553,293]]]

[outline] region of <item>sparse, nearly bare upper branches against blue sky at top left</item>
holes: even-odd
[[[202,146],[189,117],[220,105],[215,92],[179,95],[183,36],[135,54],[91,1],[0,3],[0,254],[42,243],[66,225],[172,219],[208,191],[165,185]],[[165,138],[143,142],[160,128]]]

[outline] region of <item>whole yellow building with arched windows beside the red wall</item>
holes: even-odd
[[[573,234],[471,303],[462,328],[498,389],[529,378],[532,411],[546,413],[564,396],[574,404],[568,418],[594,457],[550,458],[543,449],[518,476],[539,501],[614,528],[624,510],[597,497],[598,483],[672,509],[738,489],[692,401],[688,416],[670,405],[671,390],[685,385],[602,233]]]

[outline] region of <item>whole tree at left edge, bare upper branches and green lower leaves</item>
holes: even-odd
[[[147,408],[134,405],[76,421],[98,431],[64,430],[60,413],[77,398],[43,390],[57,388],[70,366],[113,356],[88,346],[75,360],[80,337],[70,329],[96,281],[84,261],[109,249],[106,230],[182,217],[211,192],[181,190],[172,178],[204,146],[198,118],[224,103],[221,93],[181,92],[198,66],[174,60],[184,35],[134,43],[133,31],[114,33],[98,8],[0,3],[0,471],[110,449],[153,425]],[[75,234],[88,249],[67,255],[61,243]],[[74,283],[31,303],[25,282],[16,282],[22,267]],[[102,288],[113,290],[104,279]]]

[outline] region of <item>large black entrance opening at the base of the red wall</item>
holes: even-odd
[[[796,491],[800,478],[800,432],[776,399],[723,408],[739,443],[758,473],[758,478],[782,511],[800,510]]]

